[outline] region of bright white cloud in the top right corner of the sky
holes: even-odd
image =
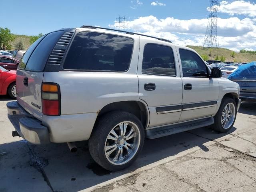
[[[236,0],[236,1],[222,1],[218,8],[222,13],[233,15],[245,15],[256,17],[256,4],[250,1]]]

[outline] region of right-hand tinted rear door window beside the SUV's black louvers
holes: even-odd
[[[49,33],[42,41],[36,46],[35,50],[32,52],[25,70],[28,71],[43,71],[46,61],[55,44],[59,40],[63,31],[56,31]],[[26,54],[25,54],[26,55]]]

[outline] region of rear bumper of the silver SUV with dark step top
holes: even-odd
[[[24,110],[17,101],[8,102],[8,118],[18,134],[33,144],[50,143],[49,131],[42,122]]]

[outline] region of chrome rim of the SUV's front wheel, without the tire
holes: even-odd
[[[228,103],[224,107],[221,115],[221,124],[224,129],[230,128],[236,115],[236,108],[233,103]]]

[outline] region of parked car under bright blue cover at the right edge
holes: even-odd
[[[256,102],[256,62],[239,66],[228,79],[239,84],[242,101]]]

